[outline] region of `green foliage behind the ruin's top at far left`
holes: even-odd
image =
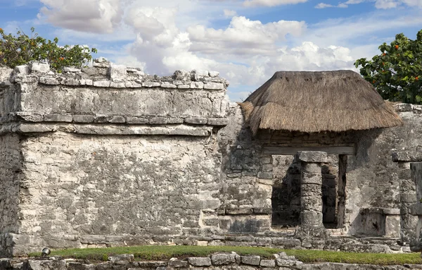
[[[91,53],[96,53],[95,48],[89,49],[79,45],[64,47],[58,46],[58,38],[51,40],[39,37],[31,28],[31,36],[23,31],[18,31],[17,36],[6,35],[0,28],[0,63],[14,68],[30,61],[49,63],[53,70],[61,72],[65,66],[81,67],[91,61]]]

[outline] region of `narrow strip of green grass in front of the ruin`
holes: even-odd
[[[378,254],[352,253],[321,250],[279,250],[269,247],[199,247],[199,246],[139,246],[139,247],[109,247],[95,249],[53,250],[50,256],[63,256],[75,259],[89,259],[94,261],[107,260],[112,254],[134,254],[136,260],[165,260],[172,257],[184,259],[186,257],[204,257],[215,252],[236,252],[240,255],[260,255],[272,258],[281,251],[294,255],[302,262],[345,262],[350,264],[422,264],[419,253],[406,254]],[[39,256],[39,253],[30,254]]]

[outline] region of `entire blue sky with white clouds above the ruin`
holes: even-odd
[[[5,32],[30,27],[146,73],[216,70],[242,101],[279,70],[339,70],[422,29],[422,0],[0,0]]]

